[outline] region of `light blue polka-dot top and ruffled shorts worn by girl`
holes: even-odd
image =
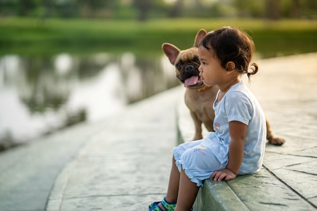
[[[174,157],[179,171],[182,167],[197,186],[202,186],[203,180],[209,179],[214,171],[226,167],[231,141],[230,121],[240,121],[248,125],[239,175],[259,172],[263,162],[266,121],[259,102],[244,82],[233,85],[220,102],[219,93],[220,91],[213,104],[215,132],[208,133],[205,139],[174,147]]]

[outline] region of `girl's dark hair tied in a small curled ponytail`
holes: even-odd
[[[256,63],[251,64],[252,72],[248,71],[255,50],[253,40],[247,33],[235,27],[225,26],[207,33],[201,46],[207,50],[212,49],[225,69],[227,69],[226,64],[232,61],[235,68],[241,74],[246,73],[248,78],[258,71],[259,67]]]

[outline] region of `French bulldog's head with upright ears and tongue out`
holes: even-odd
[[[200,66],[198,47],[206,33],[204,29],[199,30],[196,34],[193,47],[183,51],[172,44],[165,43],[162,45],[163,52],[176,68],[176,77],[184,83],[185,87],[190,89],[204,86],[198,71]]]

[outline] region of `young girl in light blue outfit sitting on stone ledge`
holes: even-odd
[[[251,38],[234,27],[211,31],[202,40],[200,77],[205,85],[220,89],[213,104],[215,132],[174,148],[166,197],[150,204],[149,210],[192,210],[204,180],[228,181],[236,175],[260,171],[266,142],[265,116],[240,79],[243,74],[250,79],[258,71],[256,63],[249,68],[253,50]]]

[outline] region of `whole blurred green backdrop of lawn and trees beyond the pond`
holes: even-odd
[[[157,54],[223,25],[247,29],[263,57],[317,51],[316,0],[0,0],[0,54]]]

